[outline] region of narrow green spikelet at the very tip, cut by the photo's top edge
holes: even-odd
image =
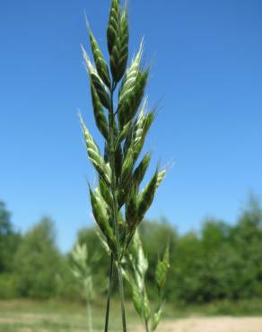
[[[109,13],[108,29],[107,29],[109,54],[111,54],[115,41],[118,38],[119,22],[120,22],[120,2],[119,0],[112,0],[111,9]]]

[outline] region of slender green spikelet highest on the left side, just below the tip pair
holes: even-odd
[[[97,69],[98,74],[100,75],[100,78],[102,79],[103,83],[107,84],[107,86],[111,87],[111,82],[109,79],[109,68],[104,60],[104,57],[100,51],[98,42],[93,36],[92,30],[88,26],[89,31],[89,37],[91,41],[91,47],[92,47],[92,55],[95,62],[95,66]]]

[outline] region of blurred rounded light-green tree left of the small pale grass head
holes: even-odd
[[[48,218],[43,218],[25,234],[14,258],[19,294],[37,299],[54,296],[60,266],[54,225]]]

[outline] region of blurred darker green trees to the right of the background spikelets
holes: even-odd
[[[258,205],[249,205],[234,226],[208,220],[200,236],[181,237],[172,263],[175,296],[186,302],[262,296],[261,216]]]

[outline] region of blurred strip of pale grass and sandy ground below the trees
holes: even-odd
[[[144,332],[131,305],[127,305],[128,331]],[[118,305],[113,301],[111,331],[120,331]],[[262,317],[199,317],[164,320],[159,332],[262,332]],[[96,331],[102,330],[103,306],[93,310]],[[84,306],[61,302],[0,301],[0,332],[86,332]]]

